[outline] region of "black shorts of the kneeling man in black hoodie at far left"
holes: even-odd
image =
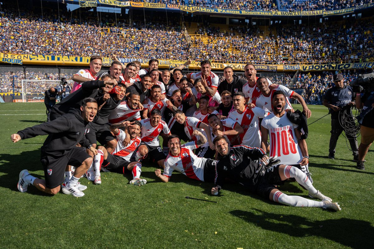
[[[54,189],[65,180],[65,168],[67,165],[79,167],[91,156],[86,153],[86,148],[74,147],[64,156],[42,155],[40,162],[44,168],[46,187]]]

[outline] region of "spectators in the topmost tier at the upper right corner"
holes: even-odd
[[[335,10],[361,6],[372,3],[373,0],[279,0],[281,10],[306,11],[306,10]]]

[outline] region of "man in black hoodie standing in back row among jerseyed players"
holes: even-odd
[[[234,96],[234,93],[243,91],[243,85],[246,84],[246,81],[239,79],[239,77],[234,74],[231,66],[226,66],[223,69],[223,76],[225,80],[218,85],[218,93],[222,94],[223,91],[229,91],[231,96]]]

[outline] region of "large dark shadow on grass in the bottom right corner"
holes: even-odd
[[[330,212],[330,211],[327,211]],[[351,248],[372,248],[374,228],[370,222],[340,218],[310,221],[297,215],[282,215],[259,209],[233,210],[230,214],[265,230],[288,234],[291,237],[319,236]]]

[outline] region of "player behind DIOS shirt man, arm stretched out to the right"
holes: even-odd
[[[261,91],[261,95],[256,100],[256,106],[258,106],[259,108],[262,108],[269,112],[273,112],[272,95],[276,91],[280,90],[286,96],[285,110],[289,110],[289,109],[291,109],[291,111],[293,110],[291,103],[289,103],[289,98],[295,98],[301,104],[301,106],[303,106],[303,112],[306,115],[306,117],[310,118],[310,115],[312,115],[312,112],[307,107],[303,97],[301,97],[300,94],[295,93],[294,91],[288,89],[284,85],[276,85],[276,87],[274,87],[273,89],[270,89],[267,78],[259,77],[257,79],[257,87]]]

